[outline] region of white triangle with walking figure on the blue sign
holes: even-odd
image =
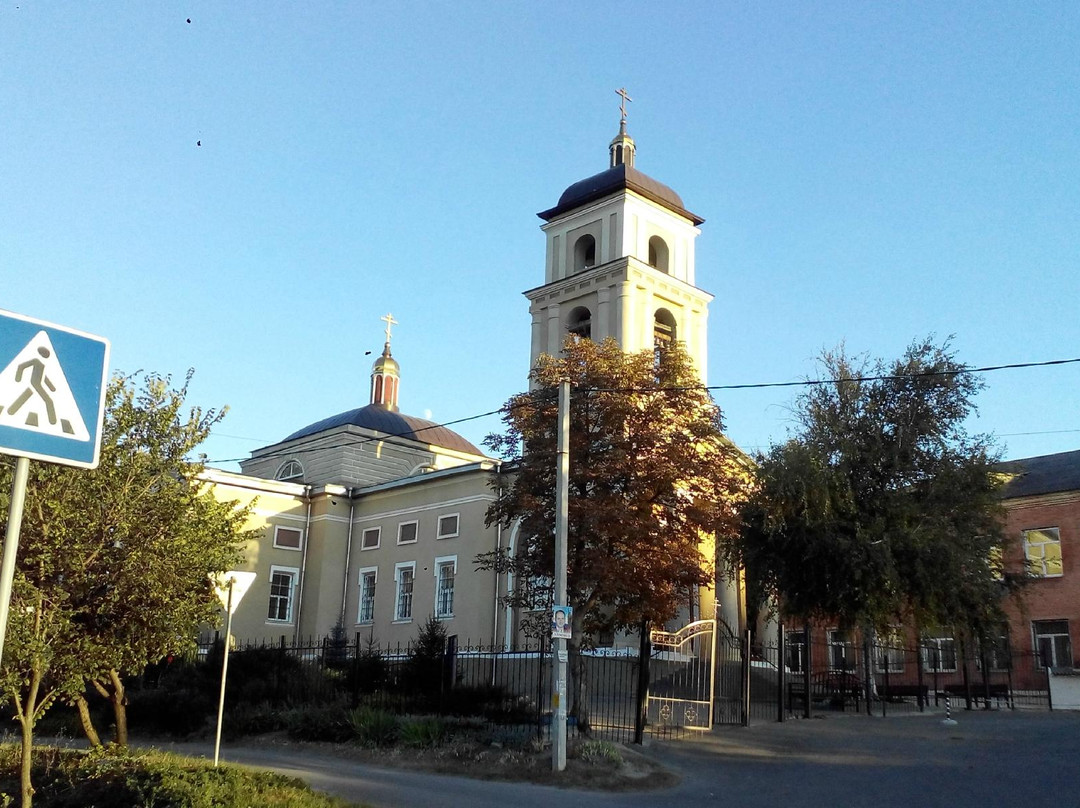
[[[89,441],[64,368],[49,334],[38,332],[0,371],[0,425]]]

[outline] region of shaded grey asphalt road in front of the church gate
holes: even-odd
[[[681,781],[620,794],[384,769],[295,748],[230,745],[221,757],[372,806],[1080,807],[1080,713],[960,712],[956,726],[942,717],[828,716],[653,742],[645,753]]]

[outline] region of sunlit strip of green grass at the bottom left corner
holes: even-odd
[[[0,745],[0,805],[18,804],[18,744]],[[158,751],[62,750],[33,753],[36,808],[346,808],[294,778]]]

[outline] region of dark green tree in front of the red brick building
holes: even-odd
[[[930,339],[821,362],[795,433],[757,458],[733,561],[792,617],[988,631],[1011,581],[997,454],[964,429],[982,381]]]

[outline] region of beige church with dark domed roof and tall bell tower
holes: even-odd
[[[608,167],[539,214],[545,260],[542,284],[524,293],[531,348],[523,387],[528,368],[557,353],[567,334],[611,337],[624,351],[679,340],[705,383],[713,297],[698,287],[694,267],[704,219],[635,167],[620,94]],[[400,410],[407,358],[399,365],[392,355],[394,321],[383,320],[366,405],[256,449],[241,473],[205,472],[219,498],[251,507],[249,526],[260,534],[245,553],[256,579],[233,619],[240,642],[288,644],[340,625],[349,636],[405,644],[430,616],[462,644],[510,647],[517,636],[521,616],[502,604],[512,577],[474,565],[481,553],[516,546],[516,528],[485,525],[502,466],[454,431]],[[702,593],[701,615],[715,608],[738,632],[739,588],[717,589],[718,604]]]

